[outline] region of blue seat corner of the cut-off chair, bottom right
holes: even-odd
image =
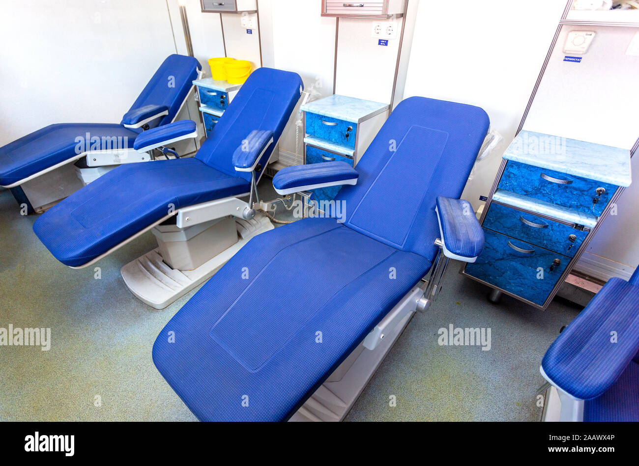
[[[639,421],[639,364],[630,363],[606,393],[583,403],[583,420]]]

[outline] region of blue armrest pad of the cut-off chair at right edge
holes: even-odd
[[[639,286],[613,277],[550,345],[541,367],[560,389],[590,400],[612,387],[638,349]]]

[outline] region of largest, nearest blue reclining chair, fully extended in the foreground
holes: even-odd
[[[254,237],[164,327],[153,361],[198,419],[346,415],[436,296],[448,258],[473,262],[482,250],[459,196],[488,127],[478,107],[413,97],[356,169],[329,162],[275,176],[280,192],[344,185],[335,203],[346,214]]]

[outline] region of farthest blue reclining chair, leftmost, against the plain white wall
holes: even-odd
[[[135,139],[143,130],[174,121],[193,88],[193,80],[201,75],[201,68],[194,57],[171,55],[160,65],[119,124],[50,124],[0,147],[0,186],[11,188],[20,204],[25,202],[30,206],[29,211],[40,211],[40,207],[49,207],[82,186],[69,163],[86,158],[82,167],[93,174],[98,169],[91,167],[151,160],[149,154],[134,150]],[[57,169],[58,177],[48,179],[46,183],[55,185],[50,190],[50,197],[42,200],[42,195],[38,195],[39,204],[31,206],[29,193],[36,183],[33,180],[44,174],[51,177],[51,172]],[[61,186],[66,184],[68,186]],[[42,186],[36,186],[39,187],[36,191],[42,191]]]

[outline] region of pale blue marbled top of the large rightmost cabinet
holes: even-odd
[[[512,141],[504,158],[624,188],[632,181],[628,149],[527,130]]]

